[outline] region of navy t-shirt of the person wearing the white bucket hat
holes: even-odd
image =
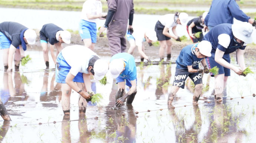
[[[211,53],[215,54],[216,49],[223,51],[224,54],[230,54],[236,51],[238,48],[244,50],[246,46],[241,46],[239,42],[234,39],[234,35],[232,33],[232,24],[224,23],[219,24],[213,27],[206,35],[204,35],[203,40],[211,42]],[[220,34],[227,34],[230,37],[230,44],[227,48],[223,47],[219,44],[218,37]]]

